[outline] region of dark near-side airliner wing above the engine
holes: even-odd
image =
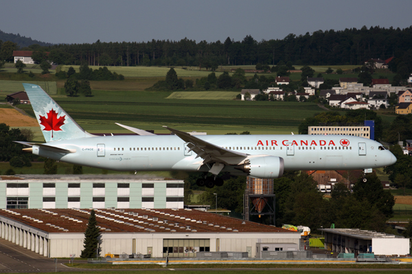
[[[170,127],[163,126],[173,132],[179,138],[187,142],[187,147],[190,148],[191,151],[197,154],[197,157],[203,159],[203,164],[209,163],[220,163],[225,165],[233,165],[233,164],[241,164],[244,160],[246,160],[248,154],[240,153],[237,151],[231,151],[229,149],[225,149],[223,147],[219,147],[217,145],[211,144],[210,142],[206,142],[205,140],[201,140],[196,136],[192,136],[186,132],[181,132],[176,129],[172,129]]]

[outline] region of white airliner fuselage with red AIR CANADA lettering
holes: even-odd
[[[396,162],[380,143],[343,135],[209,135],[196,136],[211,144],[249,155],[284,159],[285,170],[375,169]],[[33,153],[84,166],[115,171],[203,171],[201,158],[181,138],[159,136],[96,136],[48,142],[71,149],[56,153],[33,147]],[[227,167],[225,167],[227,169]],[[223,171],[225,171],[223,169]],[[207,169],[204,171],[207,172]]]

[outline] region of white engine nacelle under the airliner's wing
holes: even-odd
[[[284,160],[276,156],[262,156],[250,158],[242,166],[242,170],[249,176],[261,179],[276,179],[284,173]]]

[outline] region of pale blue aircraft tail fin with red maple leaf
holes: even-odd
[[[93,137],[38,85],[23,84],[46,142]]]

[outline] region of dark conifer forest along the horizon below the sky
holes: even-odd
[[[57,64],[87,62],[98,66],[200,66],[209,69],[224,65],[275,65],[281,60],[296,65],[361,65],[371,58],[386,60],[391,57],[395,57],[393,62],[398,64],[405,58],[412,59],[412,26],[405,29],[378,26],[368,29],[364,26],[339,31],[318,30],[299,36],[289,34],[282,40],[261,41],[248,35],[242,41],[227,37],[224,42],[196,42],[187,38],[148,42],[98,40],[92,44],[46,47],[38,44],[27,47],[12,42],[14,47],[7,45],[7,48],[5,43],[0,41],[0,47],[3,44],[0,50],[2,60],[12,58],[10,54],[16,49],[49,51],[49,58]]]

